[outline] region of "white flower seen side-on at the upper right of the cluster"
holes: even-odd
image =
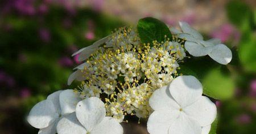
[[[188,23],[179,22],[183,32],[171,28],[172,33],[178,34],[179,38],[185,38],[185,49],[194,57],[209,55],[210,58],[221,64],[228,64],[232,59],[231,50],[217,38],[204,41],[203,36]]]

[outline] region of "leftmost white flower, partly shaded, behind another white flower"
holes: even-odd
[[[80,100],[79,96],[71,89],[54,92],[31,109],[27,117],[28,123],[39,128],[38,133],[55,134],[60,118],[73,113],[76,103]]]

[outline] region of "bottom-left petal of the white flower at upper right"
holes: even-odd
[[[194,57],[201,57],[209,54],[213,50],[213,46],[205,47],[195,42],[186,41],[185,49],[188,51],[189,54],[193,55]]]

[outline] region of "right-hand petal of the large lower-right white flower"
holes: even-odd
[[[195,103],[185,107],[184,112],[203,127],[212,124],[217,115],[217,108],[209,98],[202,96]]]

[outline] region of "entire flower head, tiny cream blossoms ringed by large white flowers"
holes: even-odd
[[[152,23],[164,27],[152,18],[142,21],[142,29],[152,25],[155,28]],[[217,115],[216,106],[202,96],[203,86],[196,77],[178,74],[182,69],[179,63],[187,57],[186,50],[195,57],[209,55],[221,64],[228,64],[232,53],[217,39],[204,41],[187,23],[181,22],[180,27],[182,32],[171,29],[175,34],[172,38],[164,27],[163,33],[169,35],[164,35],[163,41],[147,44],[142,43],[138,29],[119,28],[80,49],[73,55],[86,61],[75,68],[68,84],[73,80],[81,84],[74,90],[55,92],[36,104],[28,122],[40,128],[39,133],[119,134],[123,133],[119,123],[129,114],[149,117],[147,130],[151,134],[209,133]],[[141,34],[148,33],[145,31]]]

